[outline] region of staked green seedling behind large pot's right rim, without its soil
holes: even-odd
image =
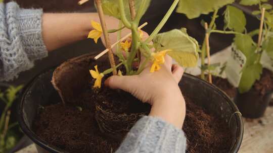
[[[211,33],[221,33],[221,34],[241,34],[245,30],[246,20],[244,13],[233,7],[229,4],[234,3],[234,0],[223,0],[223,1],[206,1],[206,0],[180,0],[178,4],[178,8],[176,10],[177,13],[185,14],[189,19],[197,18],[202,14],[209,14],[213,12],[211,17],[211,21],[209,25],[205,26],[205,22],[202,21],[202,25],[206,29],[205,38],[201,48],[201,78],[203,80],[207,80],[205,78],[205,73],[208,74],[208,81],[211,81],[211,70],[216,69],[219,66],[219,63],[210,64],[210,59],[208,56],[208,64],[205,63],[205,58],[209,54],[209,37]],[[228,6],[227,6],[228,5]],[[226,6],[226,10],[224,13],[224,22],[225,27],[223,30],[217,30],[215,20],[218,18],[218,9]],[[230,31],[226,31],[226,29],[230,29]],[[222,71],[222,70],[221,70]]]

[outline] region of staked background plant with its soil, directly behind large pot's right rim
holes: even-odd
[[[225,71],[226,63],[213,63],[210,64],[210,47],[209,47],[209,36],[212,33],[220,34],[241,34],[245,31],[246,18],[243,11],[229,5],[234,1],[225,0],[225,1],[180,1],[177,13],[185,14],[189,19],[194,19],[199,17],[202,14],[209,14],[213,12],[211,21],[209,24],[206,24],[205,21],[202,21],[202,25],[205,28],[205,38],[201,47],[201,75],[200,77],[203,80],[207,80],[210,83],[213,83],[226,94],[228,94],[232,99],[237,95],[237,87],[229,82],[227,79],[222,78],[222,72]],[[215,24],[218,16],[218,10],[222,7],[226,7],[224,16],[224,29],[217,29]],[[205,26],[207,25],[207,26]],[[226,29],[230,29],[226,31]],[[208,57],[207,63],[205,62],[206,56]],[[212,75],[212,76],[211,76]]]

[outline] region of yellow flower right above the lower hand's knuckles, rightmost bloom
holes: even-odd
[[[161,68],[160,64],[163,64],[165,62],[165,55],[168,51],[171,51],[170,49],[162,50],[157,53],[152,53],[153,56],[153,65],[150,69],[150,72],[155,72]]]

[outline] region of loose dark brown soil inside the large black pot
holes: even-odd
[[[87,94],[89,93],[89,94]],[[91,96],[86,91],[81,97]],[[94,118],[95,105],[90,101],[82,111],[61,104],[46,106],[34,121],[34,131],[43,140],[69,152],[111,152],[120,141],[101,134]],[[188,152],[228,152],[231,136],[228,125],[214,115],[209,115],[188,98],[184,131],[188,139]],[[91,107],[93,106],[93,107]]]

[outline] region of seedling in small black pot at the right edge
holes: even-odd
[[[253,15],[260,15],[260,29],[245,35],[236,35],[234,44],[239,54],[246,58],[239,79],[237,105],[243,116],[249,118],[261,117],[271,99],[273,91],[272,75],[272,6],[267,1],[241,1],[246,6],[258,5],[259,10]],[[258,42],[253,41],[258,36]]]

